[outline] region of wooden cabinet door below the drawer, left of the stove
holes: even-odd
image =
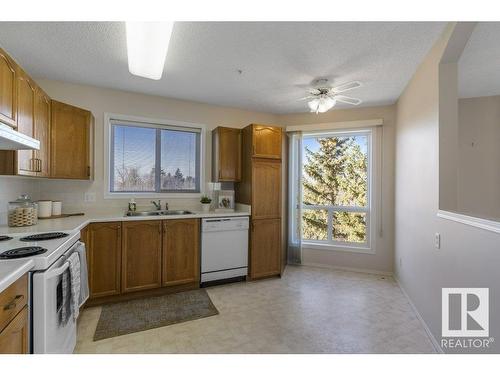
[[[0,332],[0,354],[26,354],[28,350],[28,307],[25,306]]]

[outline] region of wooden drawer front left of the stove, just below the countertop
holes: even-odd
[[[0,332],[28,303],[28,275],[0,293]]]

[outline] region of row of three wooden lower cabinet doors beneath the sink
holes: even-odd
[[[90,305],[199,287],[199,219],[91,223],[80,237]]]

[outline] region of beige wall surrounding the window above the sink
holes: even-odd
[[[153,119],[185,121],[207,125],[205,148],[205,180],[211,178],[211,132],[216,126],[244,127],[252,122],[273,124],[274,115],[234,108],[167,99],[158,96],[102,89],[65,82],[37,80],[53,99],[92,111],[95,116],[95,176],[94,181],[43,180],[40,182],[41,199],[59,199],[66,209],[126,209],[128,199],[104,199],[104,113],[125,114]],[[96,202],[84,203],[84,194],[96,194]],[[151,199],[138,199],[138,205],[151,206]],[[199,209],[199,199],[168,198],[171,208]]]

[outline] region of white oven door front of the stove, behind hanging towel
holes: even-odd
[[[76,345],[76,322],[70,316],[60,324],[62,274],[68,269],[67,256],[79,242],[45,271],[33,274],[33,352],[35,354],[73,353]]]

